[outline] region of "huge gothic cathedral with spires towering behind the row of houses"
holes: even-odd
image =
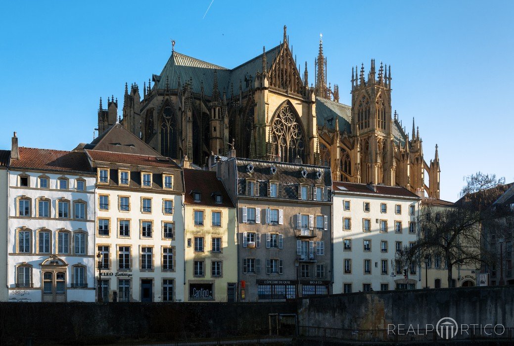
[[[339,103],[339,86],[327,85],[320,39],[314,86],[288,45],[233,69],[172,51],[160,74],[139,86],[125,84],[123,127],[162,156],[203,165],[211,153],[330,166],[334,180],[404,186],[439,198],[437,146],[424,160],[419,129],[409,136],[391,108],[391,66],[375,61],[365,75],[352,68],[352,106]],[[152,85],[153,82],[153,85]],[[116,123],[118,100],[100,99],[98,133]],[[428,185],[425,174],[428,174]]]

